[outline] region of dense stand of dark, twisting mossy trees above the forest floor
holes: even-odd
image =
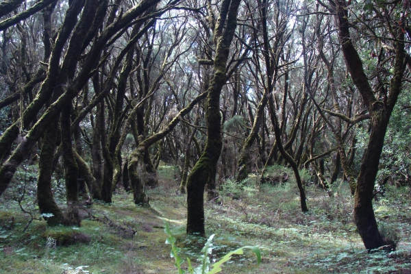
[[[346,186],[364,247],[393,250],[373,201],[411,185],[410,4],[1,1],[0,199],[71,227],[119,189],[150,206],[174,166],[205,236],[227,190],[292,182],[310,212]]]

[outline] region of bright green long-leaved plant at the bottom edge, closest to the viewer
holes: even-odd
[[[171,230],[169,227],[169,223],[164,222],[166,225],[166,228],[164,229],[164,232],[166,232],[169,237],[166,239],[166,244],[171,245],[171,253],[170,256],[171,258],[175,258],[175,266],[178,269],[179,274],[183,274],[184,270],[182,269],[181,265],[184,262],[184,260],[178,255],[181,249],[179,247],[175,246],[175,237],[173,234],[171,234]],[[188,263],[188,271],[186,273],[190,274],[213,274],[213,273],[219,273],[221,269],[221,265],[229,260],[231,260],[233,255],[242,255],[243,254],[243,249],[251,249],[254,253],[256,253],[257,256],[257,265],[260,264],[261,262],[261,253],[260,249],[258,247],[240,247],[239,249],[236,249],[234,251],[231,251],[227,253],[223,258],[221,258],[218,262],[212,264],[212,269],[210,270],[210,258],[208,258],[208,255],[211,254],[212,252],[212,238],[214,238],[215,234],[212,234],[210,238],[208,238],[206,244],[204,245],[203,249],[201,249],[201,254],[199,256],[199,261],[201,264],[197,266],[195,269],[192,268],[191,260],[190,258],[187,258],[187,263]]]

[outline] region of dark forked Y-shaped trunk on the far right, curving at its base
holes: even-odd
[[[404,34],[401,32],[402,26],[397,26],[393,29],[393,33],[397,36],[395,37],[395,42],[393,42],[395,47],[394,73],[390,82],[389,95],[386,95],[384,101],[379,101],[375,98],[369,79],[364,73],[362,60],[351,41],[347,3],[343,0],[338,0],[335,3],[341,49],[343,50],[347,69],[371,116],[371,135],[369,144],[362,157],[360,175],[358,175],[356,194],[354,195],[354,221],[356,222],[358,233],[364,242],[365,248],[371,250],[386,244],[382,235],[379,234],[377,221],[375,220],[373,189],[378,171],[379,158],[382,153],[382,147],[384,146],[386,129],[395,103],[397,103],[399,93],[401,92],[403,71],[406,68],[406,62],[404,62],[406,59],[403,43]],[[332,4],[334,5],[334,2]]]

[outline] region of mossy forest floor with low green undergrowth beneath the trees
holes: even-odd
[[[170,166],[159,170],[161,186],[148,191],[150,207],[135,206],[132,194],[119,190],[110,205],[81,208],[81,227],[34,220],[23,232],[31,217],[9,190],[0,198],[0,273],[177,273],[164,221],[181,257],[195,263],[206,239],[185,234],[186,197],[176,194],[174,173]],[[346,183],[336,184],[332,197],[308,184],[310,212],[303,214],[293,182],[257,187],[255,181],[242,188],[228,181],[220,199],[206,203],[206,232],[216,234],[212,261],[244,245],[262,253],[259,266],[245,251],[221,273],[411,273],[410,188],[387,187],[374,203],[379,227],[398,240],[397,251],[367,253]],[[25,208],[34,199],[29,194]]]

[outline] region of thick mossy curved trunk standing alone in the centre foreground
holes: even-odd
[[[204,188],[215,175],[216,164],[220,158],[223,142],[221,139],[221,89],[227,81],[225,71],[234,32],[237,26],[237,13],[240,0],[224,0],[221,3],[219,20],[214,29],[216,55],[214,58],[214,74],[208,88],[206,121],[206,147],[199,161],[195,164],[187,179],[187,234],[204,236]],[[227,25],[225,25],[225,21]],[[225,30],[223,32],[223,27]],[[215,178],[214,178],[215,180]]]

